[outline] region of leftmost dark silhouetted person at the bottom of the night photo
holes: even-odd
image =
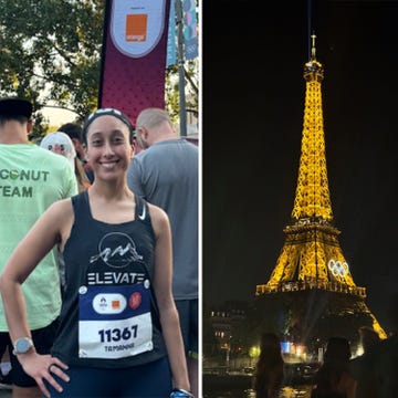
[[[258,398],[279,397],[284,379],[280,338],[275,333],[261,335],[260,357],[255,365],[253,389]]]

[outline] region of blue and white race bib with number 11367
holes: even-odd
[[[78,356],[117,359],[151,350],[149,283],[81,286]]]

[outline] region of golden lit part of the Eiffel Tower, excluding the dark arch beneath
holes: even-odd
[[[339,231],[333,224],[322,111],[324,70],[315,53],[313,34],[311,60],[304,65],[305,108],[292,223],[284,229],[285,243],[269,282],[256,285],[255,295],[324,291],[332,297],[337,294],[341,301],[349,296],[350,304],[339,305],[336,312],[365,314],[374,329],[386,337],[364,302],[365,287],[356,286],[353,280],[338,243]]]

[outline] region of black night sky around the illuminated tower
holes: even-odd
[[[334,224],[354,282],[367,289],[368,307],[389,331],[398,327],[391,315],[398,292],[398,2],[310,6],[311,31],[307,1],[203,1],[203,307],[252,300],[283,247],[314,30],[325,70]]]

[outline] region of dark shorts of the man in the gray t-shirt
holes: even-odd
[[[198,300],[176,300],[186,354],[198,359]]]

